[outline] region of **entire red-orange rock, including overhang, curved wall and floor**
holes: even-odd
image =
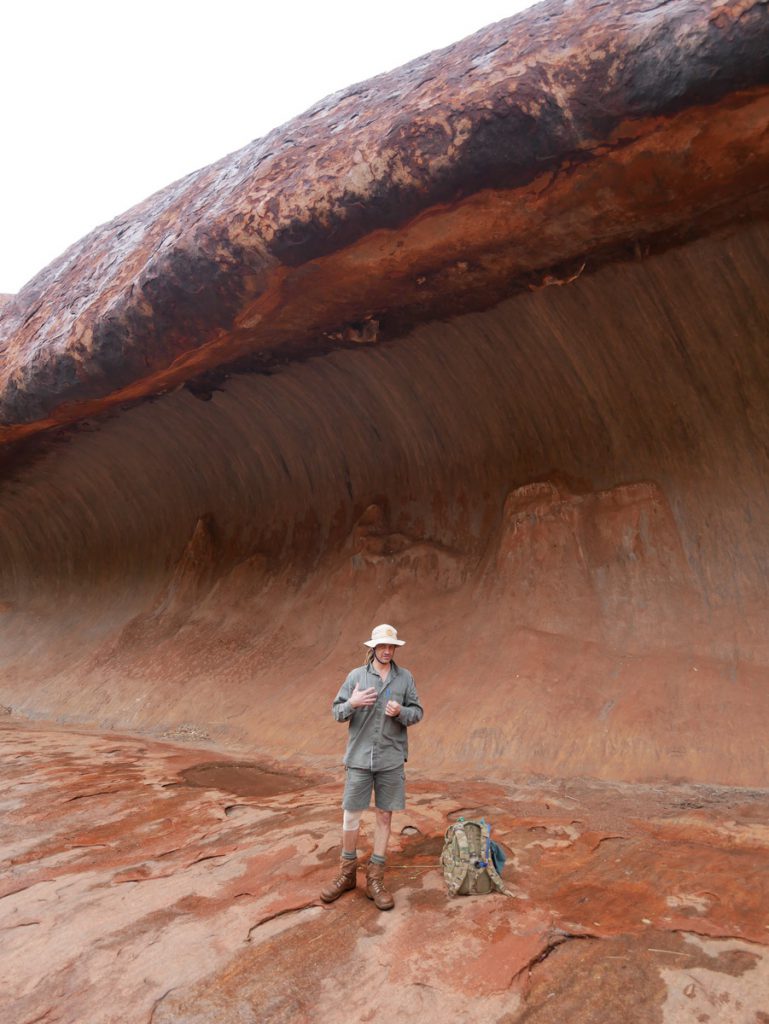
[[[769,1022],[767,52],[546,0],[0,301],[3,1024]],[[317,899],[381,622],[388,914]]]

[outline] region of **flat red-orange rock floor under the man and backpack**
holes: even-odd
[[[769,1022],[766,791],[413,772],[381,913],[317,898],[340,772],[0,730],[4,1024]],[[450,900],[481,813],[515,896]]]

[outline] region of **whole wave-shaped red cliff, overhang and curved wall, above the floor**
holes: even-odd
[[[548,0],[42,271],[0,700],[327,763],[392,621],[418,764],[769,784],[768,47]]]

